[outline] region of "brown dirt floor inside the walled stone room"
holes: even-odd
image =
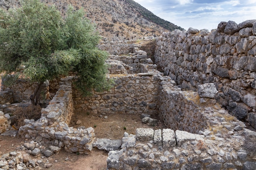
[[[84,126],[85,128],[94,128],[94,133],[97,138],[107,139],[122,139],[124,132],[135,135],[137,128],[153,128],[162,129],[165,126],[161,121],[158,121],[156,126],[149,126],[148,124],[141,123],[140,115],[127,115],[127,114],[107,114],[101,115],[88,112],[77,112],[72,116],[70,127],[79,128]],[[105,119],[104,117],[108,118]],[[151,118],[159,120],[158,117],[151,115]],[[81,121],[81,124],[76,124],[77,121]]]

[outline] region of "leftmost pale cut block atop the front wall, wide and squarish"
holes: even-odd
[[[152,128],[137,128],[136,129],[136,140],[145,142],[154,139],[154,130]]]

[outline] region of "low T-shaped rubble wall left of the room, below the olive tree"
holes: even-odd
[[[73,115],[72,79],[61,79],[59,90],[47,108],[41,111],[41,118],[37,121],[25,120],[26,125],[21,126],[19,135],[25,138],[42,137],[47,143],[58,141],[58,147],[68,152],[88,154],[92,150],[94,141],[93,128],[75,129],[68,124]]]

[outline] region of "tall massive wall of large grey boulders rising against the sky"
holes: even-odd
[[[218,29],[162,33],[155,64],[181,88],[213,82],[216,99],[240,120],[256,113],[256,20],[221,22]],[[254,116],[255,117],[255,116]]]

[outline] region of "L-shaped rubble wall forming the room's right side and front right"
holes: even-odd
[[[255,140],[256,132],[216,105],[215,99],[181,91],[164,77],[160,84],[159,116],[168,129],[137,128],[136,135],[124,134],[121,150],[108,154],[107,170],[256,168],[255,152],[245,150],[246,140]]]

